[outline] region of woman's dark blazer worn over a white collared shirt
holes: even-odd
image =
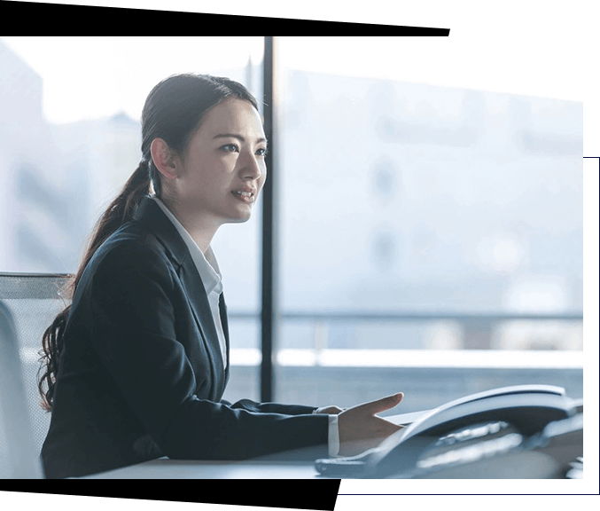
[[[315,407],[222,401],[229,378],[206,292],[188,248],[156,202],[97,249],[65,328],[47,477],[84,476],[152,460],[242,460],[320,445]]]

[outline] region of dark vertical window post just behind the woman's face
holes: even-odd
[[[273,359],[277,340],[277,132],[275,130],[275,37],[265,36],[263,59],[264,130],[269,144],[266,156],[267,181],[262,189],[262,269],[261,269],[261,401],[274,400]]]

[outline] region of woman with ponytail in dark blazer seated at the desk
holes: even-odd
[[[401,394],[346,411],[222,400],[229,335],[210,243],[222,224],[250,217],[267,175],[252,95],[226,78],[171,76],[146,99],[142,138],[143,160],[97,224],[73,302],[43,337],[46,476],[165,455],[235,460],[316,445],[347,455],[396,431],[375,413]]]

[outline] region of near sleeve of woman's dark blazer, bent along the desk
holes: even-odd
[[[284,405],[229,405],[194,394],[197,378],[208,376],[194,373],[176,338],[175,279],[158,250],[122,243],[98,264],[86,291],[91,342],[160,450],[171,458],[241,460],[315,445],[326,449],[328,418],[311,415],[312,407],[292,415]]]

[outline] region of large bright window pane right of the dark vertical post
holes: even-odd
[[[581,365],[581,38],[277,42],[277,396],[334,401],[301,365],[362,397],[367,366]]]

